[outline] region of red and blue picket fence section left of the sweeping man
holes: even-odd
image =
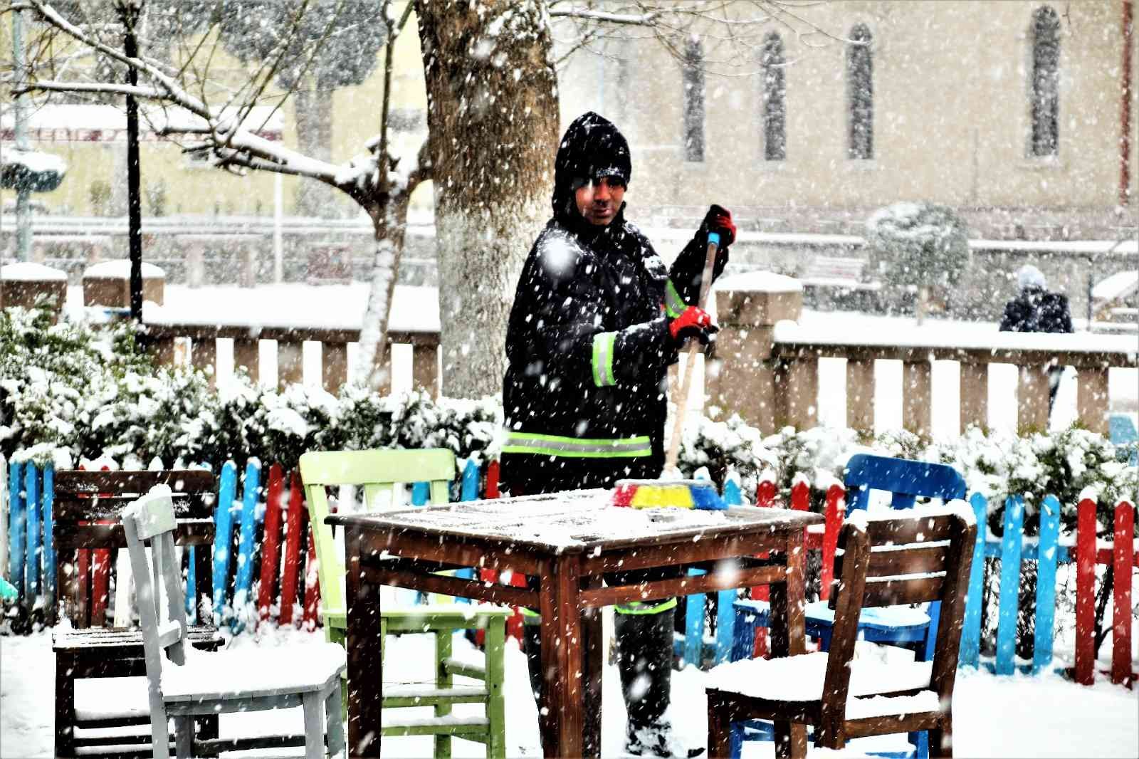
[[[6,508],[3,524],[5,573],[16,591],[15,603],[25,611],[42,609],[50,621],[55,607],[56,556],[51,546],[52,468],[11,463],[5,479]],[[474,462],[467,462],[461,473],[460,499],[497,498],[498,462],[485,473]],[[410,504],[427,503],[427,483],[413,483]],[[0,515],[2,516],[2,515]],[[192,554],[186,562],[188,620],[198,620],[203,607],[212,610],[216,625],[228,625],[240,631],[260,622],[302,625],[319,623],[320,587],[317,557],[309,533],[309,511],[304,503],[298,472],[286,472],[279,464],[262,473],[256,459],[246,463],[238,475],[236,463],[227,462],[218,476],[218,506],[214,512],[215,537],[212,577],[198,578]],[[192,552],[194,548],[188,548]],[[109,599],[110,550],[81,550],[76,571],[91,597],[92,623],[103,626]],[[118,571],[129,571],[120,563]],[[484,581],[497,577],[484,571]],[[516,577],[514,582],[523,581]],[[129,625],[124,614],[126,585],[117,583],[115,623]],[[208,590],[200,590],[208,588]],[[205,602],[205,603],[204,603]],[[521,637],[521,618],[510,629]]]

